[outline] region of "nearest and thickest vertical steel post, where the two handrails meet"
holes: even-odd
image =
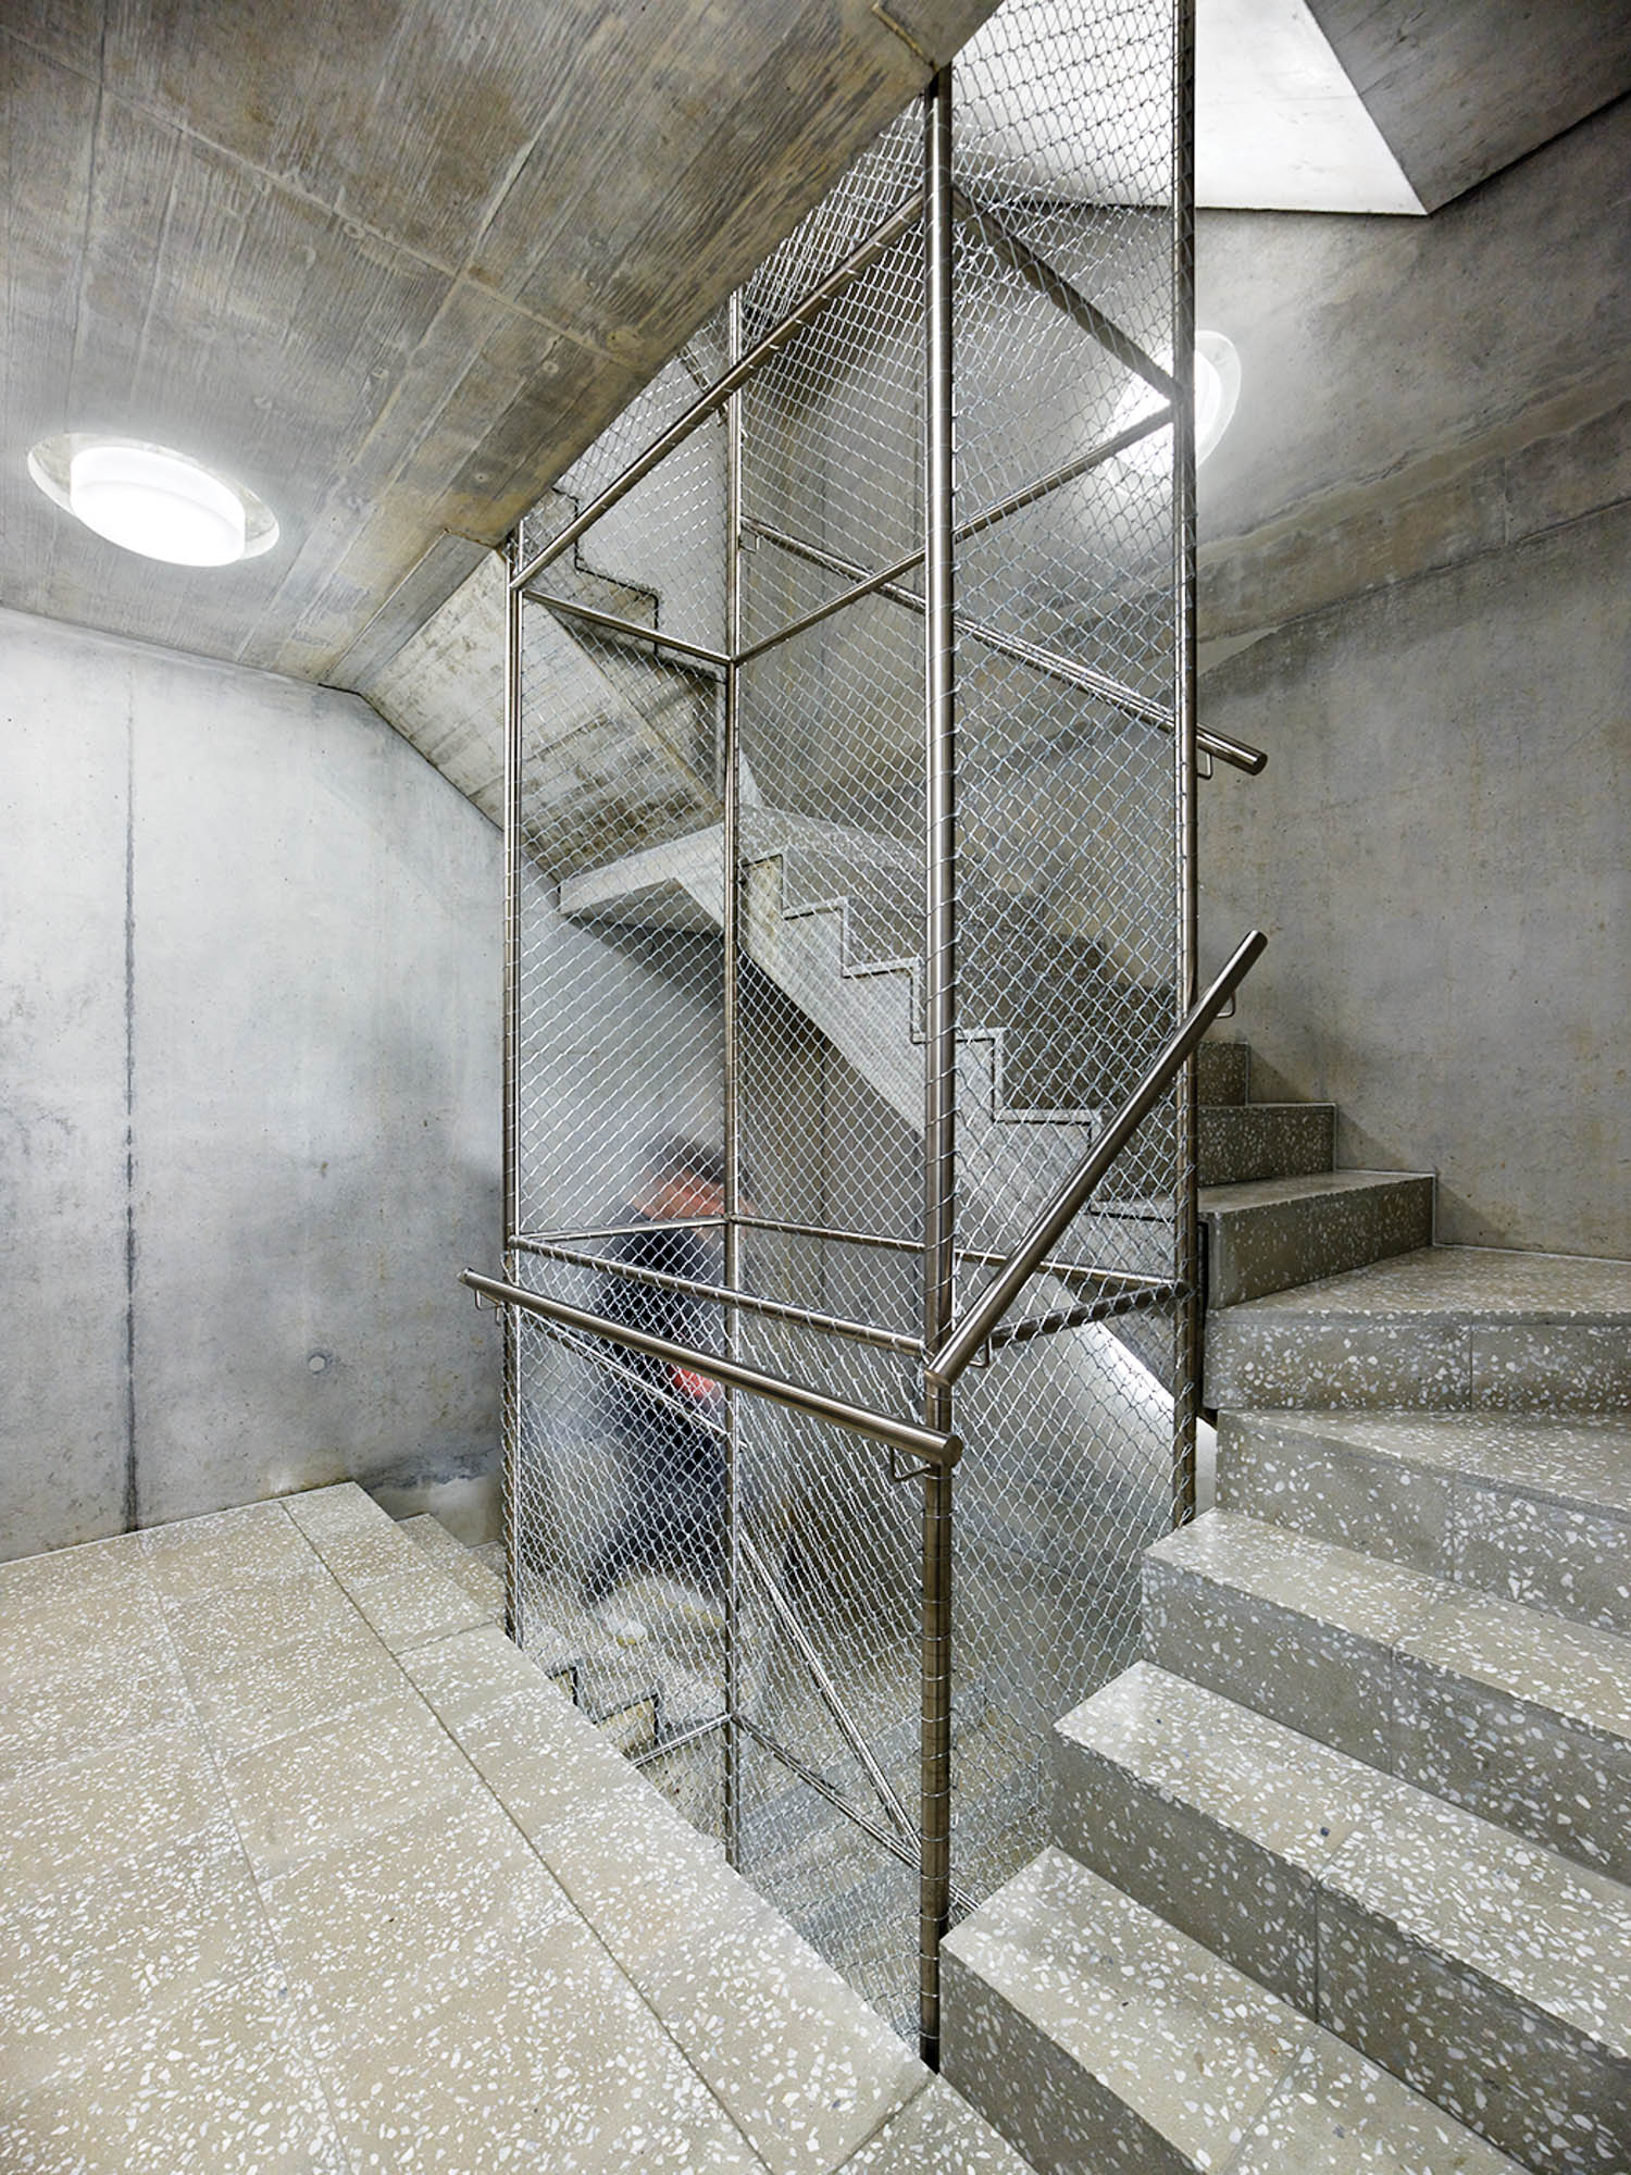
[[[953,624],[953,78],[924,94],[924,1344],[950,1329],[957,1216],[957,657]],[[924,1422],[950,1429],[950,1390]],[[924,1479],[918,2038],[939,2066],[939,1942],[950,1912],[950,1472]]]

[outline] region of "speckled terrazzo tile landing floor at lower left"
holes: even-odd
[[[1022,2162],[357,1488],[0,1568],[7,2175]]]

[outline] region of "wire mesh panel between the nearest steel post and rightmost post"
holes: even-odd
[[[1174,44],[1144,0],[1009,0],[955,74],[957,520],[974,529],[957,550],[959,1020],[994,1035],[989,1088],[961,1079],[959,1233],[1000,1253],[1183,1005]],[[1157,428],[1124,444],[1142,422]],[[1137,1559],[1172,1522],[1174,1151],[1157,1114],[1057,1248],[1148,1279],[1146,1303],[1005,1344],[959,1383],[955,1683],[1003,1718],[989,1753],[953,1760],[953,1866],[974,1897],[1046,1840],[1048,1729],[1131,1660]],[[1105,1290],[1037,1277],[1018,1314],[1070,1322]]]

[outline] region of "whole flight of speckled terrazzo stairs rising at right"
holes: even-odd
[[[1424,1244],[1246,1066],[1218,1501],[948,1942],[946,2073],[1042,2171],[1631,2168],[1631,1264]]]

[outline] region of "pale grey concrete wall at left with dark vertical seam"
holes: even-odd
[[[0,1555],[483,1516],[498,833],[354,696],[0,613]]]

